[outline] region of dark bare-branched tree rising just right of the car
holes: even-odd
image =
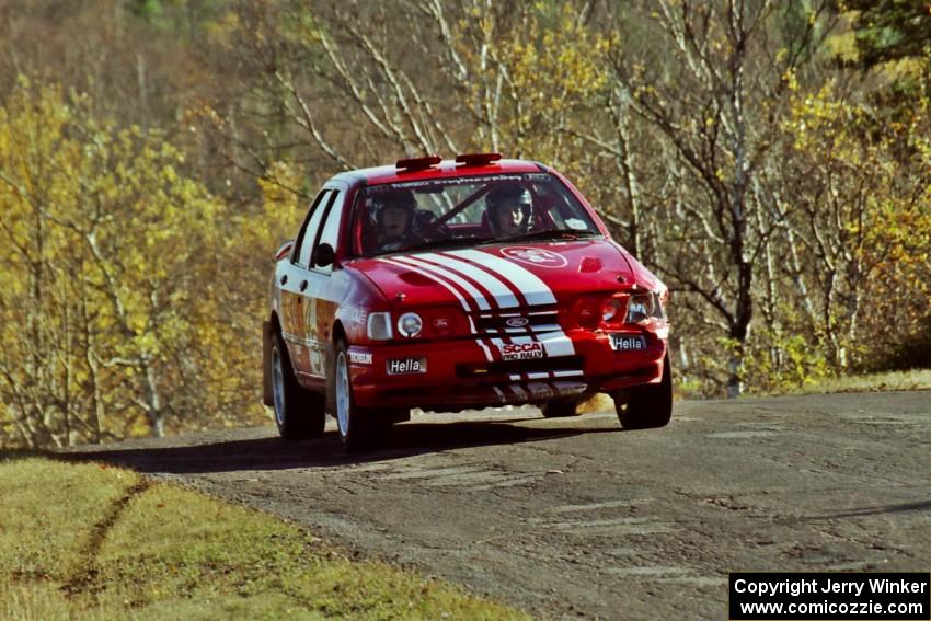
[[[755,277],[773,230],[773,196],[760,171],[779,138],[790,79],[824,36],[824,11],[809,8],[805,27],[781,32],[780,9],[766,0],[663,0],[654,42],[674,60],[613,51],[618,89],[668,142],[665,164],[682,182],[664,218],[678,243],[660,273],[716,318],[731,396],[743,391]]]

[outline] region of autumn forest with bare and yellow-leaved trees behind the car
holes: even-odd
[[[333,173],[565,172],[670,287],[678,390],[931,366],[924,0],[3,0],[0,447],[255,424]]]

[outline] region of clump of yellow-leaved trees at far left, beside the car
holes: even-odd
[[[0,418],[31,446],[196,425],[245,356],[211,286],[222,204],[158,131],[90,111],[22,80],[0,112]]]

